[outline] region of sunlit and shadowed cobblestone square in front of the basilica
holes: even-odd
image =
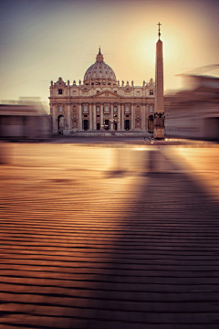
[[[219,148],[10,147],[1,328],[219,327]]]

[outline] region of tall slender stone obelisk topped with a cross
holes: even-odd
[[[164,97],[163,97],[163,66],[162,66],[162,40],[161,23],[159,22],[159,40],[156,44],[156,67],[155,67],[155,104],[153,119],[153,137],[164,139]]]

